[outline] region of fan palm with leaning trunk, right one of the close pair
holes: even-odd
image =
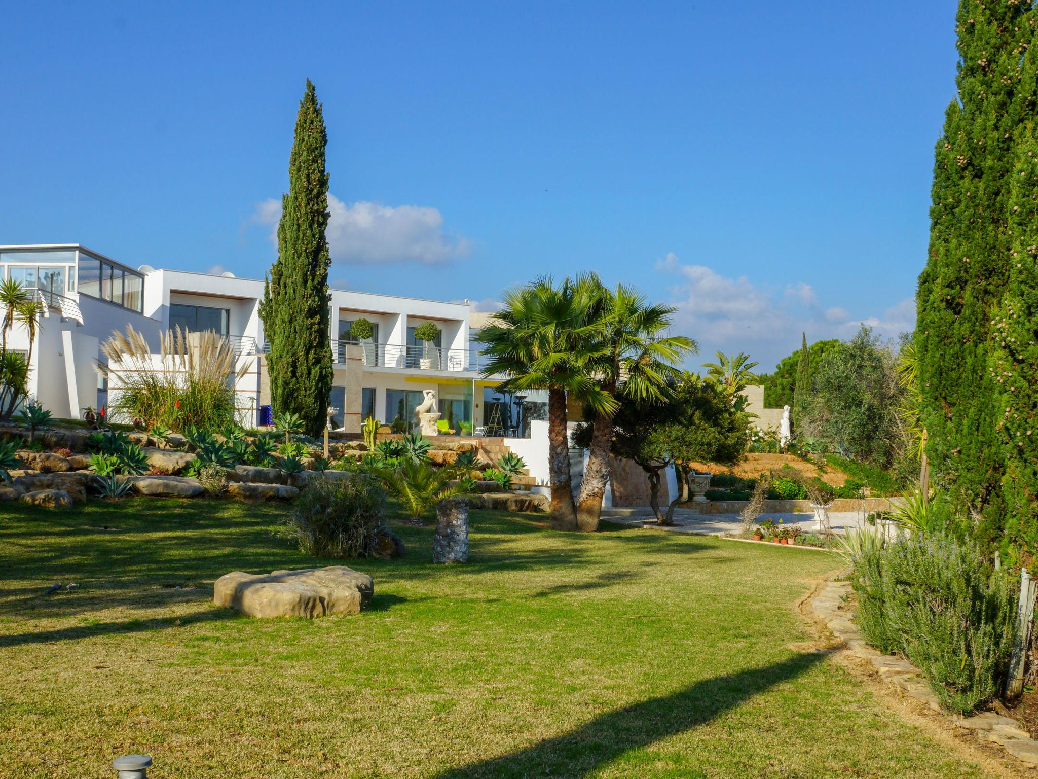
[[[644,295],[630,287],[617,285],[607,289],[597,284],[598,299],[594,317],[602,323],[601,354],[594,360],[593,371],[602,392],[610,398],[658,402],[665,398],[667,382],[681,371],[674,362],[699,350],[692,339],[667,335],[670,305],[650,305]],[[612,431],[611,410],[595,417],[588,466],[577,498],[577,526],[580,530],[598,530],[602,512],[602,496],[609,480],[609,442]]]

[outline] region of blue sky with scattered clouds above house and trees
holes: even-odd
[[[951,0],[104,6],[5,9],[0,243],[262,277],[309,77],[335,286],[595,269],[762,367],[912,326]]]

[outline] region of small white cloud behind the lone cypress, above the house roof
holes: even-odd
[[[328,251],[335,263],[444,265],[471,250],[467,238],[444,231],[443,215],[432,207],[351,204],[329,193],[328,212]],[[271,240],[276,241],[280,218],[280,200],[268,197],[256,206],[251,221],[270,225]]]

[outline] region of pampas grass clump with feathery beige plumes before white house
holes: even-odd
[[[219,430],[236,419],[235,387],[251,367],[230,342],[212,331],[166,330],[159,355],[132,326],[101,346],[107,361],[94,368],[109,382],[109,417],[174,431],[189,426]]]

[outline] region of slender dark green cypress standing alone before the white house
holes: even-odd
[[[328,338],[328,173],[321,104],[310,80],[299,103],[296,135],[289,158],[289,192],[281,196],[277,262],[260,303],[270,354],[270,394],[278,413],[302,417],[316,435],[327,424],[331,393]]]

